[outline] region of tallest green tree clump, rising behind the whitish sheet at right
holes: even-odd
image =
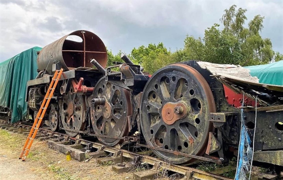
[[[220,19],[224,29],[220,30],[219,25],[214,24],[205,30],[203,39],[187,35],[184,41],[185,56],[213,63],[243,66],[271,62],[275,58],[271,40],[260,36],[264,17],[254,16],[248,23],[248,28],[245,28],[247,10],[236,8],[237,6],[233,5],[224,10],[225,13]]]

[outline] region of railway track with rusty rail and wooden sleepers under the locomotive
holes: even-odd
[[[32,127],[31,123],[13,123],[10,124],[6,120],[0,119],[0,126],[2,129],[7,129],[9,131],[12,131],[14,133],[22,132],[23,134],[28,134],[29,129]],[[93,149],[96,150],[92,153],[89,153],[90,156],[94,158],[98,158],[97,162],[108,162],[112,161],[115,164],[119,162],[119,164],[113,166],[113,170],[118,172],[127,171],[130,167],[129,166],[135,166],[135,164],[140,163],[147,163],[152,166],[152,169],[149,169],[147,171],[143,171],[142,173],[135,173],[134,177],[136,179],[146,179],[147,177],[154,177],[156,174],[158,174],[160,167],[166,167],[166,170],[172,171],[175,173],[179,173],[181,175],[184,175],[183,179],[221,179],[221,180],[232,180],[230,178],[208,173],[202,170],[198,170],[196,168],[191,168],[188,166],[181,166],[181,165],[175,165],[170,164],[168,162],[164,162],[158,158],[144,155],[142,153],[135,153],[131,151],[127,151],[124,149],[118,149],[115,147],[106,147],[100,143],[97,143],[95,141],[90,140],[89,138],[84,137],[70,137],[67,134],[63,134],[60,132],[52,132],[48,127],[42,127],[39,129],[37,138],[39,140],[49,140],[48,146],[52,149],[60,150],[62,151],[76,151],[76,147],[83,147],[83,149]],[[66,144],[70,145],[66,145]],[[62,150],[64,149],[64,150]],[[79,148],[80,149],[80,148]],[[82,149],[82,148],[81,148]],[[80,150],[77,149],[77,152]],[[103,158],[103,156],[107,156],[107,154],[113,154],[112,157]],[[85,158],[85,155],[74,152],[71,153],[72,157],[77,160],[83,160]],[[76,156],[76,157],[75,157]],[[101,157],[102,156],[102,157]],[[123,163],[123,158],[128,158],[132,162],[129,164]],[[121,162],[122,161],[122,162]]]

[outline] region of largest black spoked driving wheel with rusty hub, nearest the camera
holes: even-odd
[[[207,146],[208,120],[215,112],[209,85],[188,65],[174,64],[158,70],[143,90],[141,130],[148,145],[202,155]],[[153,150],[163,160],[183,164],[189,157]]]

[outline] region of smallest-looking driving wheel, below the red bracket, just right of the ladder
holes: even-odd
[[[77,93],[68,92],[60,100],[60,115],[63,128],[70,130],[84,130],[85,97]],[[65,132],[74,137],[78,132],[65,130]]]

